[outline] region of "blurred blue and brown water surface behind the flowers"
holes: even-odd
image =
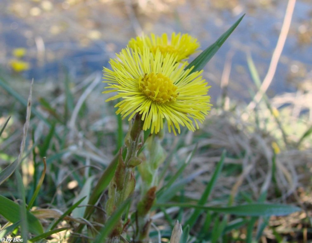
[[[101,72],[130,38],[142,33],[189,33],[203,50],[246,14],[204,76],[213,100],[222,82],[228,83],[230,97],[250,100],[256,87],[247,55],[263,79],[286,5],[284,0],[2,0],[0,66],[37,83],[62,82],[64,75],[79,80]],[[298,0],[269,96],[310,89],[311,42],[312,2]]]

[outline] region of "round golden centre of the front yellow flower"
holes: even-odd
[[[145,74],[139,81],[139,90],[153,102],[161,104],[176,100],[177,88],[169,77],[161,73]]]

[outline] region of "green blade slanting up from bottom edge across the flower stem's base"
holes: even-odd
[[[109,233],[114,229],[114,226],[120,220],[122,213],[128,208],[130,202],[131,198],[128,198],[116,209],[116,211],[112,214],[112,216],[110,216],[109,219],[106,221],[105,226],[100,230],[100,234],[93,243],[106,242],[105,239],[107,238]]]

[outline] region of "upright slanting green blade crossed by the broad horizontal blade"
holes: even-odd
[[[222,167],[223,167],[223,162],[224,162],[224,158],[225,158],[225,154],[226,152],[223,151],[220,161],[218,162],[214,173],[211,177],[211,180],[209,181],[205,191],[203,192],[201,198],[198,201],[198,205],[204,205],[205,203],[207,203],[208,197],[221,173]],[[185,224],[189,224],[190,227],[193,227],[193,225],[195,224],[195,222],[197,221],[198,216],[200,215],[201,210],[200,209],[195,209],[193,214],[190,216],[190,218],[186,221]]]

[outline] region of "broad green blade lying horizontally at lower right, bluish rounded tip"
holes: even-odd
[[[299,207],[292,205],[268,203],[253,203],[232,207],[209,207],[189,203],[155,203],[155,207],[172,206],[179,206],[184,208],[199,208],[238,216],[285,216],[293,212],[301,211]]]

